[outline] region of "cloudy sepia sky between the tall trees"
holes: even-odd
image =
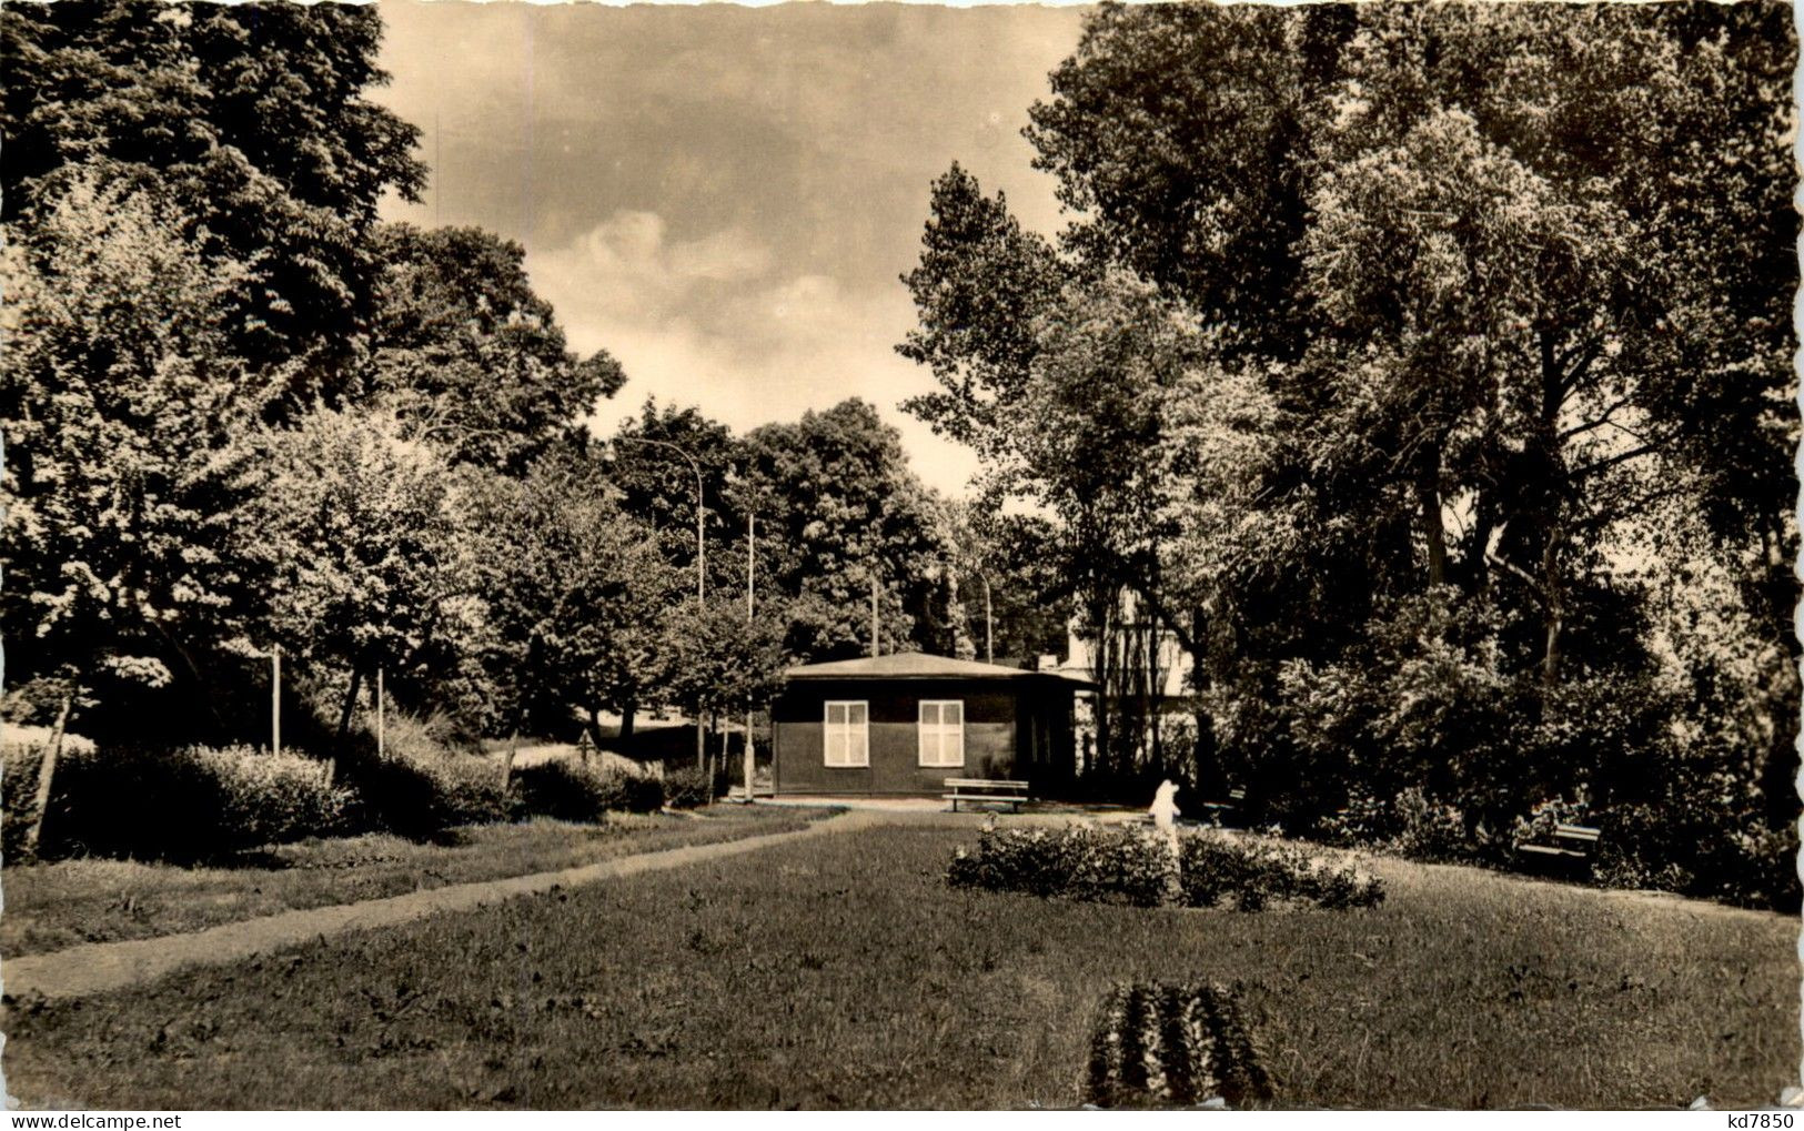
[[[1026,108],[1077,45],[1070,7],[599,7],[384,2],[377,92],[422,130],[431,184],[384,215],[527,249],[572,348],[626,388],[745,431],[864,397],[929,485],[976,460],[898,404],[933,388],[895,345],[898,276],[954,161],[1021,222],[1064,220]]]

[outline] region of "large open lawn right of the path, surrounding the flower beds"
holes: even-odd
[[[1402,860],[1364,911],[949,889],[880,828],[16,1003],[25,1104],[1064,1108],[1124,979],[1236,994],[1277,1106],[1772,1104],[1795,922]]]

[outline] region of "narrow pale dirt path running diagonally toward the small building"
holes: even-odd
[[[686,848],[667,848],[635,857],[619,857],[563,871],[539,871],[534,875],[509,877],[500,880],[480,880],[474,884],[453,884],[428,891],[411,891],[359,904],[337,904],[330,907],[307,907],[283,911],[263,918],[207,927],[189,934],[164,934],[161,938],[139,938],[130,942],[85,943],[51,954],[27,954],[7,958],[0,963],[0,988],[11,999],[27,998],[83,998],[101,994],[128,985],[162,978],[171,970],[189,965],[216,965],[249,958],[278,947],[341,934],[345,931],[366,931],[372,927],[390,927],[410,920],[426,918],[442,911],[473,911],[487,904],[509,900],[521,895],[536,895],[552,887],[579,887],[597,880],[613,880],[639,875],[640,871],[660,871],[736,857],[772,844],[801,841],[828,833],[857,832],[893,821],[895,815],[877,812],[839,814],[817,821],[808,828],[743,837],[740,841],[718,841],[713,844],[691,844]]]

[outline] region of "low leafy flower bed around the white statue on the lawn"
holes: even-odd
[[[1384,884],[1373,877],[1321,864],[1295,848],[1214,832],[1180,837],[1173,860],[1165,837],[1140,826],[985,828],[976,851],[958,848],[945,878],[954,887],[1137,907],[1174,902],[1257,911],[1290,900],[1344,909],[1384,898]]]

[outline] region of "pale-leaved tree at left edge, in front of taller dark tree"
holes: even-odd
[[[231,352],[240,276],[150,191],[74,180],[9,229],[0,426],[13,680],[166,685],[244,615],[233,435],[265,390]],[[173,669],[173,671],[171,671]]]

